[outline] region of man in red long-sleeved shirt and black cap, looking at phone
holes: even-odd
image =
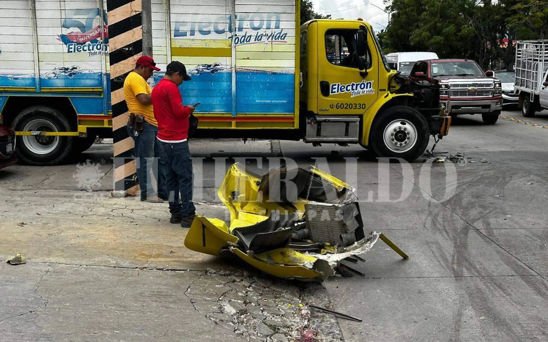
[[[182,105],[178,88],[182,81],[190,81],[185,65],[178,61],[169,63],[164,78],[152,89],[152,106],[158,122],[156,139],[165,158],[164,174],[172,214],[169,221],[190,227],[196,211],[192,203],[192,158],[188,141],[189,116],[194,107]]]

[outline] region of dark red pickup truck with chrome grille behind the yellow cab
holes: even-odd
[[[439,103],[449,115],[481,113],[483,122],[494,124],[503,108],[499,79],[483,72],[473,60],[431,59],[418,61],[409,75],[415,82],[438,83]]]

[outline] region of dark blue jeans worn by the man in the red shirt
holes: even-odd
[[[192,157],[189,142],[163,143],[158,140],[164,153],[164,174],[169,193],[169,212],[184,218],[195,215],[192,203]],[[179,202],[180,196],[180,202]]]

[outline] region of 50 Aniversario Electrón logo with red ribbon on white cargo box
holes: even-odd
[[[97,25],[97,21],[101,20],[101,12],[99,8],[83,9],[71,11],[72,18],[65,18],[61,27],[67,33],[58,36],[67,47],[67,53],[86,52],[88,56],[98,54],[109,54],[109,28],[107,26],[107,14],[103,13],[104,32],[101,32],[101,25]],[[85,16],[85,23],[79,19]],[[101,33],[105,38],[101,41]]]

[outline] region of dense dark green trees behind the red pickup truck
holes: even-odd
[[[516,7],[520,2],[538,13],[538,3],[545,0],[393,0],[387,7],[392,20],[379,37],[386,52],[430,51],[441,58],[473,59],[484,69],[499,60],[510,67],[515,53],[511,42],[519,23],[527,22],[517,16],[524,12]],[[542,22],[536,19],[529,26],[540,32]]]

